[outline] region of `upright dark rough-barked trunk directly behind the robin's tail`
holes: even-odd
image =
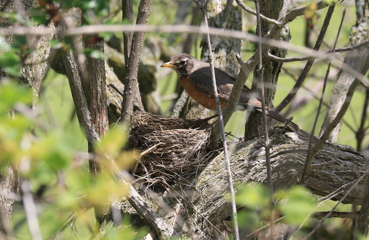
[[[277,1],[260,1],[260,12],[266,17],[279,20],[285,13],[281,12],[283,9],[286,0],[277,0]],[[261,33],[263,36],[268,34],[270,28],[270,24],[265,21],[261,21]],[[256,29],[258,32],[258,29]],[[290,30],[288,25],[286,25],[277,37],[281,42],[288,42],[291,39]],[[262,46],[262,49],[266,49],[269,46]],[[259,48],[256,45],[256,48]],[[270,53],[280,58],[284,58],[287,54],[287,49],[282,48],[270,48]],[[282,67],[282,62],[277,62],[275,60],[270,60],[269,58],[263,58],[263,79],[264,79],[264,90],[265,90],[265,104],[268,107],[273,107],[273,100],[276,91],[277,81],[280,73],[280,69]],[[259,67],[256,66],[254,70],[254,80],[252,83],[251,90],[254,93],[261,93],[261,90],[258,87],[259,81]],[[268,125],[270,126],[271,118],[268,118]],[[263,134],[263,124],[262,117],[259,114],[254,112],[251,113],[250,118],[245,126],[245,139],[254,138],[255,136],[261,136]]]

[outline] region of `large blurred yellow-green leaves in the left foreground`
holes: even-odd
[[[22,114],[33,99],[30,88],[21,86],[14,79],[0,83],[0,164],[1,167],[8,163],[20,166],[20,176],[30,180],[32,192],[46,189],[42,195],[35,196],[37,205],[42,207],[38,216],[40,232],[44,238],[62,234],[64,239],[70,239],[71,236],[89,239],[92,235],[89,229],[93,229],[95,224],[93,206],[99,206],[112,198],[123,198],[127,190],[114,180],[110,171],[102,172],[96,180],[91,181],[88,161],[86,157],[79,156],[83,153],[81,150],[86,151],[87,144],[77,119],[72,118],[73,123],[66,125],[70,121],[65,114],[66,109],[73,110],[69,86],[60,75],[54,73],[50,76],[44,82],[45,91],[34,110],[41,112],[32,117]],[[61,88],[55,88],[56,85],[51,88],[50,84],[61,84]],[[55,95],[55,91],[59,94]],[[46,98],[48,95],[54,98]],[[41,107],[48,104],[52,106],[49,115],[45,113],[50,109],[42,110]],[[12,109],[15,111],[14,117],[11,117]],[[50,114],[58,119],[54,126],[48,123]],[[104,154],[115,156],[121,151],[127,142],[126,132],[120,126],[110,130],[110,134],[96,146],[99,161],[105,161]],[[131,152],[123,152],[119,156],[117,164],[123,168],[129,166],[133,159]],[[67,221],[69,223],[63,223],[73,211],[75,213]],[[68,225],[71,226],[66,227]],[[17,238],[24,239],[29,235],[25,212],[20,203],[15,205],[11,226]],[[73,230],[72,226],[76,229]],[[59,232],[61,229],[62,233]],[[110,237],[107,239],[117,239],[118,236],[137,239],[135,232],[130,227],[110,229]]]

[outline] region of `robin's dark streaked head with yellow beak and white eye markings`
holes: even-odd
[[[187,77],[193,72],[194,63],[197,59],[187,53],[174,55],[170,62],[164,63],[161,67],[170,67],[182,77]]]

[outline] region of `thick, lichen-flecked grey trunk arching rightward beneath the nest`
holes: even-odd
[[[281,128],[274,128],[270,132],[270,141],[273,147],[270,150],[272,162],[273,186],[284,188],[292,177],[300,170],[305,160],[309,136],[306,132],[286,132],[277,137]],[[315,139],[316,141],[316,139]],[[235,182],[247,184],[249,182],[262,182],[267,184],[265,167],[265,148],[263,137],[247,142],[238,143],[229,147],[231,172]],[[224,171],[223,154],[215,157],[203,171],[197,174],[196,179],[189,180],[182,189],[187,197],[181,200],[186,204],[189,216],[182,211],[181,218],[186,223],[191,219],[191,230],[194,239],[204,239],[210,234],[210,223],[216,224],[230,215],[231,204],[225,197],[228,189],[227,176]],[[307,173],[305,186],[314,194],[328,195],[342,185],[359,178],[369,169],[369,156],[356,152],[352,147],[325,143],[323,150],[313,160],[313,168]],[[241,186],[237,185],[236,190]],[[179,186],[174,185],[178,192]],[[361,182],[343,201],[346,204],[361,204],[365,182]],[[345,192],[335,196],[340,199]],[[175,212],[176,199],[166,192],[163,200]],[[176,195],[177,196],[177,195]],[[149,201],[148,199],[146,199]],[[152,201],[152,200],[151,200]],[[153,204],[155,205],[155,204]],[[169,214],[156,205],[157,211]],[[123,214],[130,215],[135,224],[145,224],[139,215],[128,205],[122,203]],[[206,216],[204,219],[203,216]],[[169,219],[172,220],[172,219]],[[187,222],[188,223],[188,222]],[[188,236],[191,232],[189,226],[177,226],[179,234]],[[187,232],[186,232],[187,231]]]

